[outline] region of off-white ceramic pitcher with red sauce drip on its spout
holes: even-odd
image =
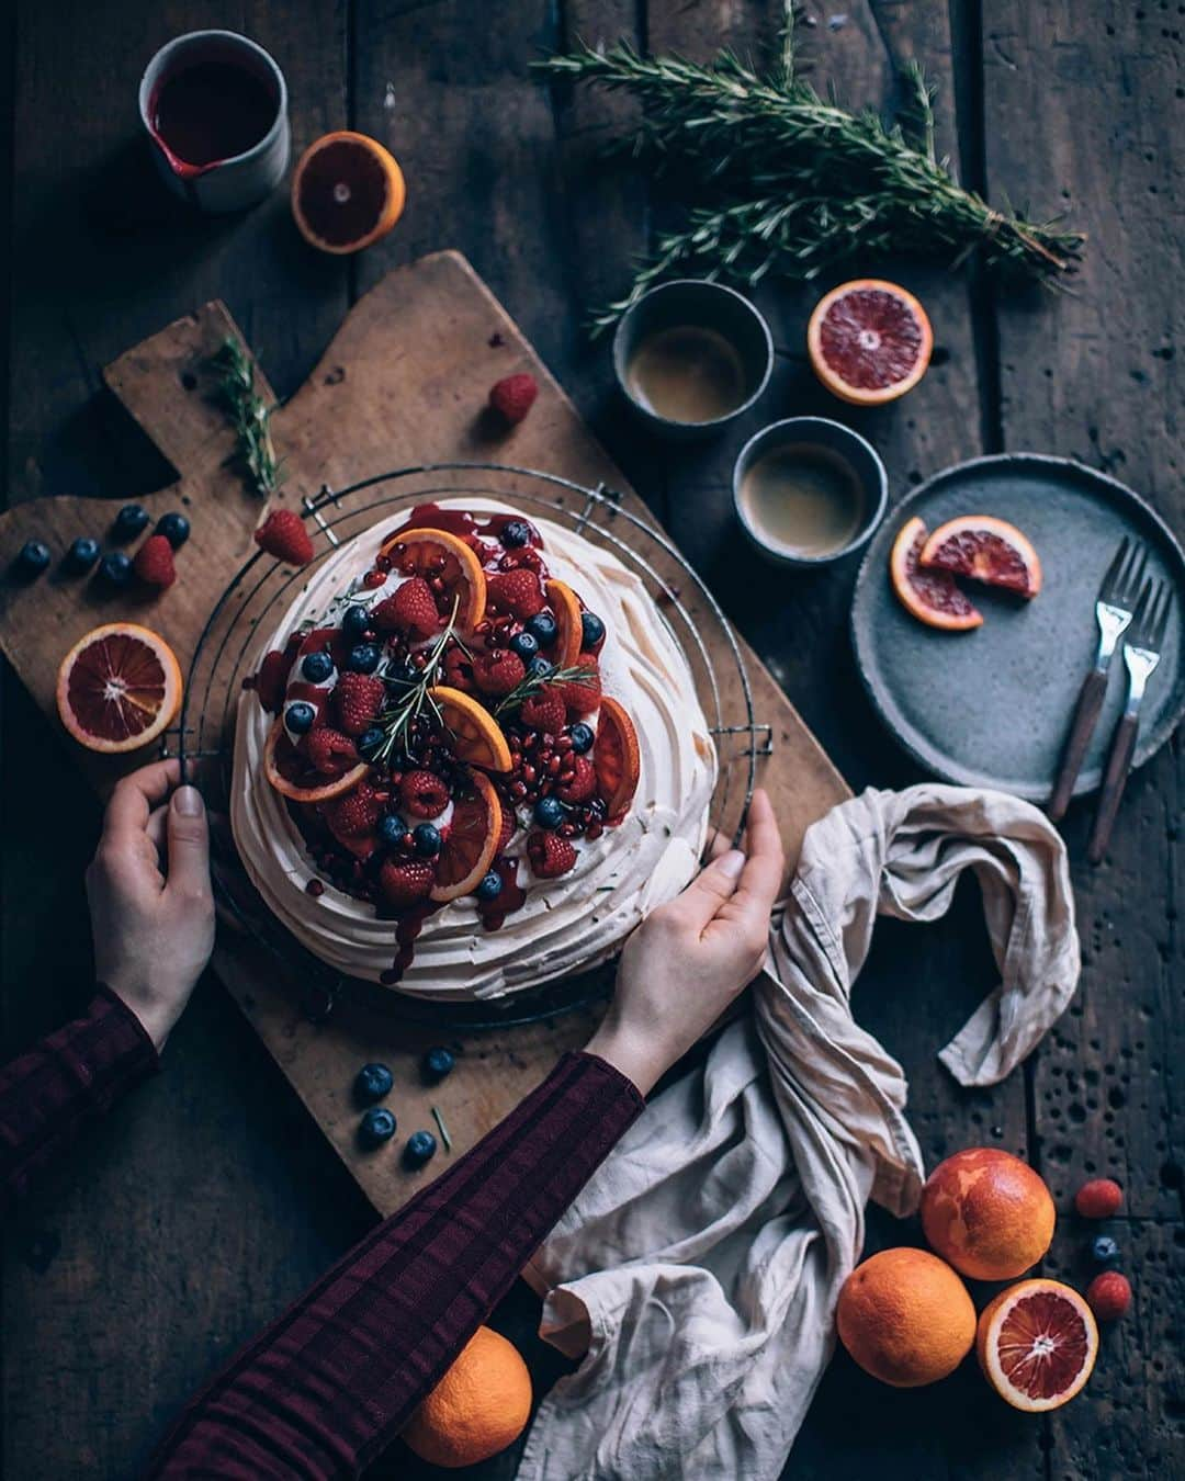
[[[276,118],[258,144],[243,154],[209,164],[179,160],[153,124],[161,83],[198,61],[227,61],[243,67],[261,77],[276,99]],[[198,210],[246,210],[270,195],[284,178],[292,148],[287,83],[274,58],[237,31],[188,31],[161,46],[139,83],[139,118],[153,141],[153,157],[164,184]]]

